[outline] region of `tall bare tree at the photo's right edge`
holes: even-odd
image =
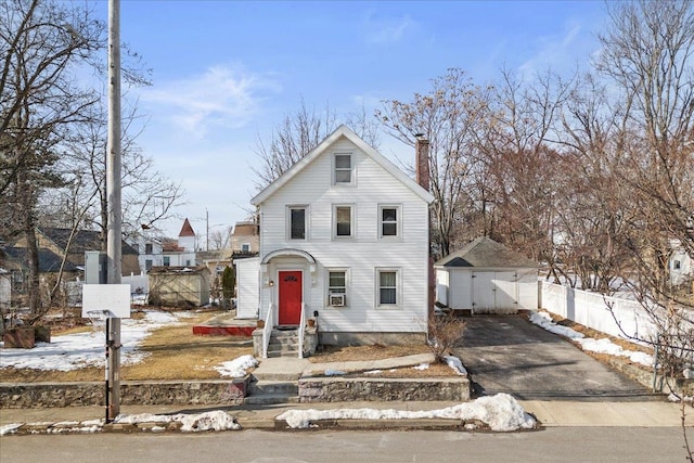
[[[681,362],[694,360],[692,299],[669,278],[676,244],[694,255],[694,7],[642,0],[611,4],[608,13],[597,67],[626,108],[617,150],[634,210],[627,281],[657,326],[648,340],[660,345],[664,370],[679,375]]]

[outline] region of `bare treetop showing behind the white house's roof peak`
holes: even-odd
[[[306,156],[325,137],[337,128],[339,119],[334,111],[325,105],[322,111],[307,107],[301,99],[298,110],[287,114],[266,142],[258,136],[255,153],[260,165],[253,167],[256,173],[256,187],[262,190],[294,164]],[[350,127],[371,146],[377,149],[378,134],[375,123],[371,123],[365,112],[347,114],[344,124]]]

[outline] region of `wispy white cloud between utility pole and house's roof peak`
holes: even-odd
[[[185,79],[170,80],[143,92],[153,117],[204,138],[210,126],[239,128],[259,112],[264,93],[280,90],[268,76],[241,67],[214,66]]]

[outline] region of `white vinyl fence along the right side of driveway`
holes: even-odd
[[[539,306],[583,326],[617,337],[650,339],[657,334],[648,314],[633,300],[542,281]]]

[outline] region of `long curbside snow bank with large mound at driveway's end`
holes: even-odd
[[[445,409],[428,411],[375,410],[375,409],[334,409],[334,410],[287,410],[277,417],[286,421],[293,428],[310,427],[318,420],[479,420],[491,430],[510,432],[530,429],[537,422],[523,410],[523,407],[507,394],[480,397]]]

